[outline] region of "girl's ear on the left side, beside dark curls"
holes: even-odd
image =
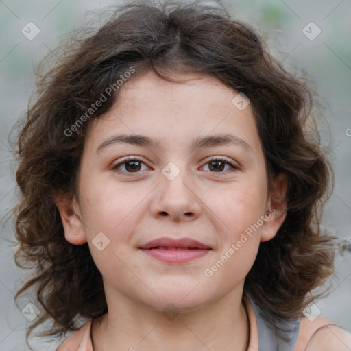
[[[66,241],[74,245],[86,243],[84,223],[75,197],[60,193],[54,195],[54,198],[61,215]]]

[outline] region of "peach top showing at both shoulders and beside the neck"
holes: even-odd
[[[244,306],[247,311],[247,317],[250,324],[250,339],[247,351],[260,351],[258,348],[258,324],[254,306],[250,299],[244,298]],[[91,341],[91,326],[93,319],[89,319],[80,329],[73,332],[66,340],[64,340],[56,351],[93,351],[93,344]],[[313,322],[310,322],[307,318],[304,318],[300,322],[300,330],[298,331],[298,339],[295,343],[295,348],[291,351],[304,351],[311,339],[314,332],[316,332],[322,326],[333,324],[324,318],[316,318]],[[260,345],[263,350],[262,343]],[[285,349],[286,350],[286,349]]]

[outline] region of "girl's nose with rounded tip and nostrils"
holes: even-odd
[[[160,174],[160,185],[149,206],[152,215],[159,219],[167,217],[175,222],[197,219],[202,210],[202,201],[186,171],[180,171],[174,179],[167,178],[165,174]]]

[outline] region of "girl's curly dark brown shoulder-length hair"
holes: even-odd
[[[250,98],[269,179],[284,173],[288,189],[287,217],[276,237],[260,244],[244,293],[275,318],[301,317],[313,300],[310,292],[332,273],[333,258],[333,238],[319,228],[333,173],[317,131],[307,127],[314,119],[311,89],[271,56],[256,30],[232,19],[219,2],[129,2],[99,29],[83,33],[72,36],[58,62],[41,75],[36,101],[20,121],[15,261],[35,272],[16,298],[34,287],[45,310],[27,337],[49,318],[53,328],[41,335],[62,337],[79,328],[77,318],[107,312],[101,273],[88,244],[64,239],[54,197],[76,195],[88,126],[111,108],[119,90],[75,133],[67,130],[130,66],[136,70],[133,77],[153,70],[172,82],[161,71],[210,75]]]

